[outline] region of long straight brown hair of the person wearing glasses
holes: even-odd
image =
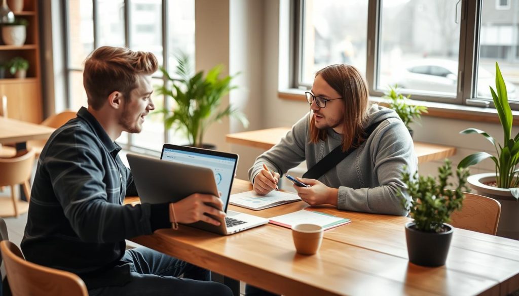
[[[316,73],[339,95],[343,97],[343,151],[358,147],[364,140],[367,124],[368,91],[367,83],[356,67],[337,64],[327,66]],[[326,140],[326,130],[316,127],[315,119],[310,119],[310,143]]]

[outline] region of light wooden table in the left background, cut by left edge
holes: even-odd
[[[53,128],[11,118],[0,117],[0,144],[16,144],[16,151],[25,150],[28,140],[46,139]],[[20,185],[21,200],[26,201]],[[2,203],[2,202],[0,202]],[[26,203],[19,204],[20,213],[26,212]],[[6,207],[3,207],[6,208]]]

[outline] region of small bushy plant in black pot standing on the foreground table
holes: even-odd
[[[399,194],[403,207],[413,218],[413,222],[405,225],[407,253],[409,261],[422,266],[445,264],[453,235],[453,227],[447,222],[450,214],[461,209],[465,198],[463,191],[469,191],[466,185],[468,170],[456,170],[458,185],[454,190],[447,189],[454,186],[447,181],[453,176],[451,162],[446,159],[438,171],[438,181],[431,176],[418,176],[417,172],[413,175],[402,173],[406,189],[400,190]]]

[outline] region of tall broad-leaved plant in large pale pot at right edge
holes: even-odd
[[[497,235],[519,239],[519,134],[512,133],[512,110],[508,102],[507,86],[496,62],[496,90],[490,87],[490,93],[496,106],[499,122],[503,129],[502,144],[479,129],[466,129],[460,134],[480,134],[496,149],[497,156],[487,152],[477,152],[462,159],[458,167],[469,167],[484,159],[491,159],[496,165],[495,173],[476,174],[469,177],[470,187],[478,194],[486,195],[501,203],[501,216]]]

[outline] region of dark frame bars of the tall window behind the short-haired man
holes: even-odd
[[[99,36],[99,25],[98,25],[98,0],[92,1],[92,23],[93,23],[93,47],[94,49],[99,47],[98,44],[98,36]],[[65,23],[63,25],[63,48],[64,48],[64,72],[65,72],[65,106],[67,109],[71,108],[72,105],[72,90],[70,86],[70,76],[72,72],[83,72],[83,69],[73,67],[70,63],[70,46],[69,46],[69,1],[61,0],[62,3],[62,13],[63,20]],[[124,3],[124,34],[125,34],[125,47],[129,47],[131,44],[131,34],[130,34],[130,23],[131,23],[131,12],[130,12],[130,2],[131,0],[123,0]],[[168,11],[169,11],[169,1],[161,0],[161,26],[162,26],[162,66],[166,69],[166,71],[170,72],[170,66],[168,63],[168,52],[169,52],[169,44],[168,44],[168,33],[169,33],[169,23],[168,23]],[[152,76],[155,79],[161,79],[163,83],[168,83],[168,79],[165,76]],[[162,103],[165,108],[170,108],[171,104],[166,95],[162,95]],[[164,130],[163,139],[164,143],[171,142],[174,137],[170,135],[170,130]],[[133,135],[128,133],[127,143],[121,143],[121,147],[130,151],[148,151],[148,152],[156,152],[160,151],[161,147],[157,149],[149,149],[145,147],[137,146],[133,143]]]

